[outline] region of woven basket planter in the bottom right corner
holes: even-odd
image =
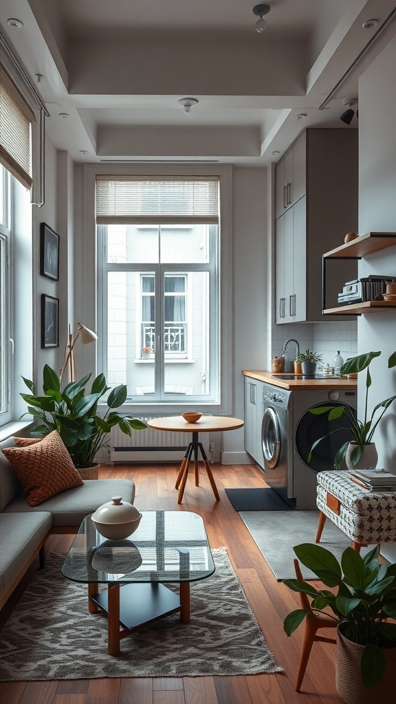
[[[360,677],[360,659],[364,646],[349,641],[337,629],[335,686],[345,704],[395,704],[396,648],[384,648],[385,674],[372,689],[366,689]]]

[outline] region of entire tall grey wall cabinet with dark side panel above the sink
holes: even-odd
[[[276,322],[319,322],[325,320],[321,305],[323,244],[340,245],[347,232],[357,230],[357,130],[305,130],[280,163],[282,177],[276,175],[282,202],[281,184],[286,169],[290,170],[286,163],[290,153],[292,203],[276,218]],[[278,206],[280,195],[276,194]],[[285,205],[286,201],[285,196]],[[356,275],[356,264],[351,268],[350,262],[340,260],[326,280],[326,300],[337,303],[345,281]]]

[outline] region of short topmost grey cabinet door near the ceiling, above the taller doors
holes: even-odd
[[[306,135],[303,132],[276,166],[276,218],[305,195],[305,167]]]

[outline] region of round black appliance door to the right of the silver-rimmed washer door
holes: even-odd
[[[330,401],[328,403],[317,403],[314,408],[320,408],[321,406],[335,408],[336,406],[345,406],[345,404]],[[353,408],[350,408],[350,410],[356,415],[356,411]],[[314,472],[333,469],[334,458],[338,450],[345,442],[353,440],[350,427],[351,423],[345,413],[338,420],[328,420],[328,413],[314,415],[307,410],[299,419],[295,429],[295,448],[300,460]],[[319,438],[323,438],[323,440],[316,445],[312,452],[311,460],[308,462],[311,447]],[[347,467],[341,468],[347,469]]]

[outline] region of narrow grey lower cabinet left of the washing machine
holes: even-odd
[[[261,422],[263,420],[264,383],[245,377],[245,450],[264,467],[261,446]]]

